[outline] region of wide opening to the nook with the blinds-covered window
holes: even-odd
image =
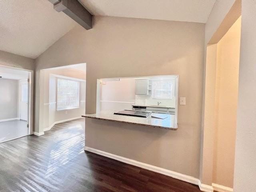
[[[86,64],[40,70],[40,116],[38,136],[58,123],[85,114]]]

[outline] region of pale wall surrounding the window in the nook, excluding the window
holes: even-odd
[[[56,110],[56,76],[61,75],[71,78],[80,78],[85,80],[86,73],[72,69],[56,69],[56,70],[44,70],[44,121],[43,128],[47,129],[51,127],[55,122],[67,120],[70,118],[80,117],[85,114],[85,94],[86,94],[86,82],[80,81],[80,105],[79,108],[68,110]],[[67,114],[66,114],[67,113]]]

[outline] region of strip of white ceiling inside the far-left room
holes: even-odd
[[[13,68],[5,68],[5,67],[0,66],[0,76],[3,79],[20,80],[20,79],[27,79],[28,72],[23,71],[23,70],[16,70]]]

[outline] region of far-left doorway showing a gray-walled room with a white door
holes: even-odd
[[[0,66],[0,143],[31,134],[33,72]]]

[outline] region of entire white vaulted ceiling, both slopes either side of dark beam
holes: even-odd
[[[205,23],[216,0],[79,0],[93,15]],[[76,22],[48,0],[0,0],[0,50],[37,58]]]

